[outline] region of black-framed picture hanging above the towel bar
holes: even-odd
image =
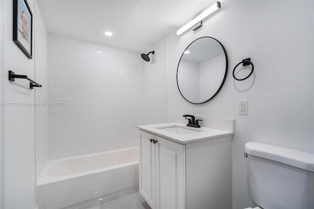
[[[32,59],[33,14],[26,0],[13,0],[13,41]]]

